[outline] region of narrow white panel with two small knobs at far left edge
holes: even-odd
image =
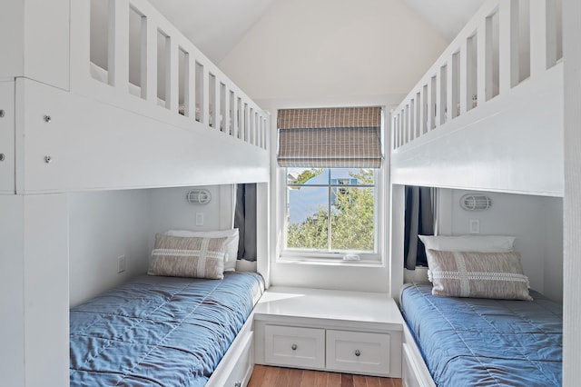
[[[15,193],[15,82],[0,82],[0,193]]]

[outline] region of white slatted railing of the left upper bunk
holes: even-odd
[[[266,150],[269,114],[146,0],[71,1],[71,91]]]

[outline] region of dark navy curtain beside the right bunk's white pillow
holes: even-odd
[[[415,270],[416,265],[428,266],[424,243],[418,235],[434,234],[434,211],[431,188],[406,186],[404,230],[404,265]]]

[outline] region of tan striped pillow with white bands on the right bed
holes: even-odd
[[[451,297],[532,300],[519,253],[427,250],[432,294]]]

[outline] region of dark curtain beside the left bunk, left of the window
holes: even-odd
[[[234,228],[238,228],[238,259],[256,261],[256,184],[237,184]]]

